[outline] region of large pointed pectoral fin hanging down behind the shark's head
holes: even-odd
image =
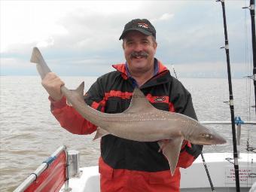
[[[181,151],[181,145],[183,138],[178,137],[175,139],[169,139],[168,141],[159,141],[158,145],[162,148],[163,155],[169,162],[169,167],[171,169],[172,175],[174,175],[175,168],[178,163],[178,157]]]

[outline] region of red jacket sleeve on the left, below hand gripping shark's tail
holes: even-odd
[[[51,97],[49,97],[49,100],[51,113],[59,121],[60,125],[70,133],[86,135],[96,130],[96,126],[93,123],[84,119],[81,114],[75,111],[75,108],[66,104],[65,96],[57,102]]]

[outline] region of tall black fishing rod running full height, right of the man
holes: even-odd
[[[239,166],[238,166],[238,154],[236,148],[236,126],[235,126],[235,117],[234,117],[234,106],[233,106],[233,90],[232,90],[232,81],[231,81],[231,72],[230,72],[230,51],[227,39],[227,22],[226,22],[226,13],[225,13],[225,3],[224,0],[217,0],[216,2],[221,2],[223,21],[224,21],[224,35],[225,35],[225,50],[227,57],[227,76],[228,76],[228,87],[230,92],[230,114],[232,122],[232,136],[233,136],[233,159],[234,159],[234,169],[236,177],[236,192],[240,191],[239,184]],[[221,47],[222,48],[222,47]]]

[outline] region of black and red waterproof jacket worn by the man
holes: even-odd
[[[173,78],[161,62],[158,72],[140,87],[155,108],[175,111],[197,119],[190,93]],[[88,105],[105,113],[120,113],[130,105],[134,82],[126,72],[125,64],[113,66],[110,72],[90,87],[84,99]],[[66,105],[66,98],[51,100],[51,111],[66,130],[76,134],[90,134],[96,126]],[[186,168],[198,157],[203,146],[184,142],[175,175],[171,176],[169,163],[159,151],[157,142],[135,142],[116,136],[103,136],[101,140],[102,191],[179,191],[179,167]]]

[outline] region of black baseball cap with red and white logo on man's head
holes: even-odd
[[[146,19],[135,19],[131,20],[129,23],[126,23],[124,26],[122,35],[120,35],[119,40],[123,39],[127,32],[130,32],[132,30],[136,30],[139,32],[142,32],[145,35],[152,35],[154,38],[156,38],[156,29],[154,29],[154,26],[149,22],[149,20]]]

